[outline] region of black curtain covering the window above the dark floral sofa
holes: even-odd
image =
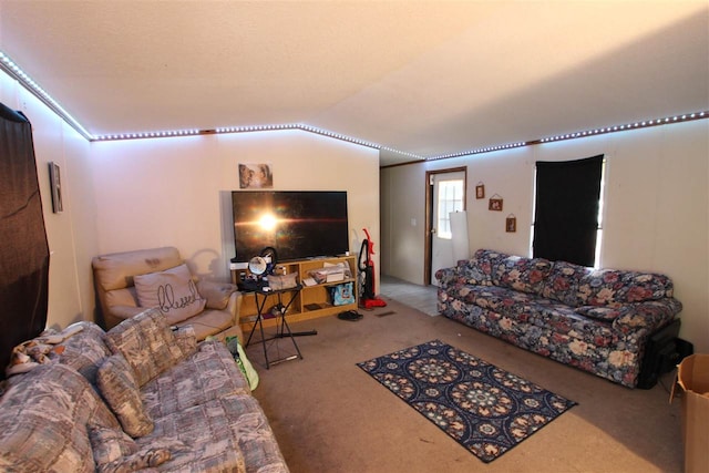
[[[534,256],[593,266],[603,154],[536,163]]]

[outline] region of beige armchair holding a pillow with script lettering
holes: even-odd
[[[238,336],[243,342],[237,287],[197,280],[184,263],[173,247],[94,257],[94,285],[105,329],[158,307],[172,325],[193,326],[197,340]]]

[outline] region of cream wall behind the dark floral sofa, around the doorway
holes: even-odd
[[[709,351],[709,121],[569,140],[381,171],[381,271],[423,284],[424,176],[427,171],[467,166],[471,253],[494,248],[528,255],[534,163],[605,154],[606,208],[602,266],[664,273],[684,304],[680,336]],[[485,199],[475,185],[485,184]],[[487,210],[499,194],[504,210]],[[505,233],[505,217],[517,232]],[[420,223],[413,227],[411,219]]]

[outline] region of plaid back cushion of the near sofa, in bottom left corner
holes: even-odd
[[[93,472],[86,424],[119,424],[89,381],[60,363],[16,378],[0,398],[0,471]]]

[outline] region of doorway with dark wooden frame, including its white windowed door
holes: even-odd
[[[427,235],[423,280],[427,286],[435,286],[435,271],[455,264],[450,213],[465,210],[467,167],[429,171],[425,182]]]

